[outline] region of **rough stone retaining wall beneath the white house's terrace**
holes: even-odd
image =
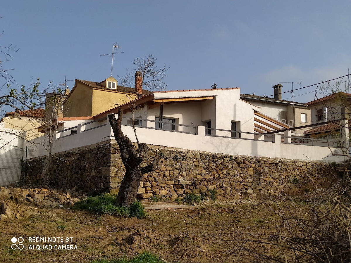
[[[229,156],[190,150],[151,146],[146,162],[160,156],[156,170],[145,174],[138,195],[149,198],[161,195],[175,199],[187,193],[208,195],[217,189],[228,198],[255,194],[278,194],[283,189],[314,189],[338,174],[335,163],[271,159],[268,157]],[[118,193],[125,169],[117,143],[107,141],[89,148],[75,149],[58,155],[53,186],[75,186],[88,193]],[[28,161],[27,182],[40,182],[45,174],[45,158]]]

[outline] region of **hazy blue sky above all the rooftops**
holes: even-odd
[[[111,56],[100,54],[118,42],[116,79],[134,58],[152,54],[170,67],[168,90],[216,82],[272,95],[279,82],[301,81],[299,88],[347,74],[350,10],[343,0],[2,1],[0,46],[20,48],[2,67],[16,69],[19,85],[37,77],[43,86],[65,76],[100,82],[111,75]],[[290,89],[283,83],[283,92]],[[315,89],[294,92],[294,101],[313,100]]]

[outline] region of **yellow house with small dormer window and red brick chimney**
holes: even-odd
[[[118,86],[114,77],[101,82],[75,80],[75,85],[64,102],[65,117],[93,116],[135,99],[148,95],[140,85],[140,74],[135,74],[135,88]]]

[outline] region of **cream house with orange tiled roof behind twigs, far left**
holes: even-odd
[[[42,108],[33,110],[16,110],[14,112],[7,112],[1,119],[1,123],[5,129],[14,130],[24,133],[26,140],[31,140],[35,137],[41,136],[38,127],[44,120],[45,110]]]

